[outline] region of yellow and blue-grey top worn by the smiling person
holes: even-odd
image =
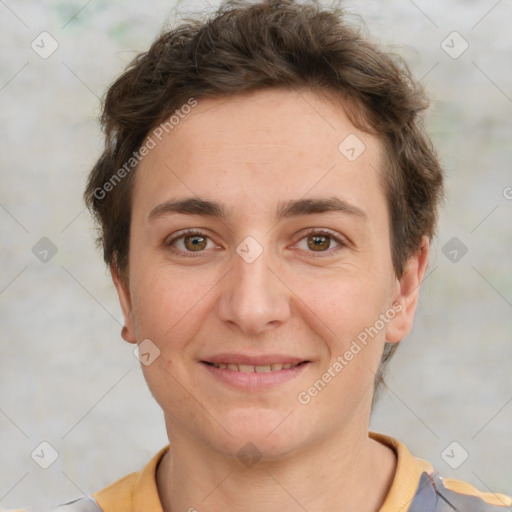
[[[481,492],[467,482],[443,478],[431,464],[414,457],[396,439],[369,432],[397,455],[393,483],[379,512],[508,512],[512,498]],[[58,507],[55,512],[163,512],[156,485],[156,468],[169,450],[162,448],[138,473],[131,473],[92,497]],[[191,510],[194,510],[191,507]]]

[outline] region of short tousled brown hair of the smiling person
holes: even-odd
[[[107,264],[122,273],[128,267],[133,155],[147,135],[191,98],[270,87],[334,93],[355,126],[380,136],[392,260],[402,275],[422,236],[434,236],[443,196],[442,169],[422,125],[428,100],[403,59],[318,0],[228,0],[205,20],[162,32],[111,85],[101,117],[105,150],[84,194]],[[386,343],[374,401],[397,346]]]

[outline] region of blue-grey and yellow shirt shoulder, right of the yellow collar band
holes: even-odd
[[[462,480],[424,472],[408,512],[506,512],[512,498],[502,493],[483,492]]]

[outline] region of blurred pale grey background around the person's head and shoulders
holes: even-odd
[[[512,1],[344,5],[423,79],[447,172],[415,327],[371,429],[512,494]],[[81,196],[106,88],[164,23],[206,8],[0,0],[0,507],[92,493],[167,444]]]

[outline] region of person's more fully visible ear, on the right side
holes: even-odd
[[[402,277],[396,279],[393,309],[397,314],[386,327],[386,341],[390,343],[401,341],[412,329],[429,248],[428,237],[424,236],[420,248],[407,261]]]

